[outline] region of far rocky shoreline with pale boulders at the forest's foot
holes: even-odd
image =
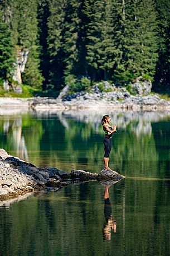
[[[59,96],[9,98],[0,97],[1,108],[23,109],[132,109],[132,110],[170,110],[170,101],[151,94],[152,83],[136,82],[129,91],[127,87],[116,87],[107,81],[97,83],[89,91],[70,91],[65,86]]]

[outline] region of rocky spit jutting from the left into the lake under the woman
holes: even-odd
[[[115,182],[125,178],[115,171],[101,170],[99,174],[83,170],[70,173],[55,167],[37,167],[29,162],[8,155],[0,149],[0,201],[26,196],[40,191],[59,190],[70,182],[98,180]]]

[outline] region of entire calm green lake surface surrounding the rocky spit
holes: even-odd
[[[1,148],[37,166],[99,173],[100,119],[106,113],[1,115]],[[0,255],[170,255],[170,113],[114,110],[109,115],[118,131],[110,167],[126,178],[110,187],[97,181],[70,184],[3,204]]]

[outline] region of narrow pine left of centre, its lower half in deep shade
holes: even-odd
[[[64,19],[66,0],[49,1],[49,17],[47,19],[47,48],[50,58],[49,80],[50,87],[61,89],[62,77],[64,75]]]

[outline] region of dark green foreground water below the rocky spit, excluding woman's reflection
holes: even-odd
[[[169,255],[169,182],[125,179],[110,187],[118,224],[111,243],[101,232],[103,189],[72,185],[0,208],[2,255]]]

